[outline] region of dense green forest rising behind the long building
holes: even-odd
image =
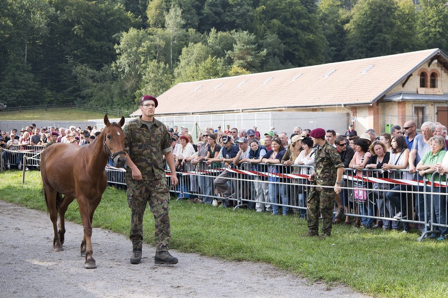
[[[133,110],[179,82],[431,48],[446,0],[0,0],[0,101]]]

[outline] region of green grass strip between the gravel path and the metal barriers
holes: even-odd
[[[27,172],[24,185],[22,172],[6,171],[0,177],[2,200],[46,210],[39,172]],[[271,263],[310,280],[343,283],[369,295],[448,296],[448,241],[417,242],[415,233],[344,225],[335,225],[328,239],[301,238],[307,231],[306,221],[294,215],[273,217],[175,200],[170,202],[170,218],[171,248],[180,251]],[[70,205],[67,219],[81,223],[76,202]],[[144,221],[144,239],[153,244],[154,221],[149,211]],[[128,235],[129,222],[125,192],[108,187],[93,225]],[[52,237],[50,219],[48,227]]]

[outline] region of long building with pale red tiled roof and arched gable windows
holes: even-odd
[[[380,133],[411,119],[448,126],[447,73],[448,57],[430,49],[185,82],[158,97],[162,104],[157,115],[221,119],[239,113],[287,112],[300,119],[309,118],[310,112],[337,113],[345,117],[343,127],[354,123],[358,132],[373,128]],[[131,116],[138,115],[140,110]]]

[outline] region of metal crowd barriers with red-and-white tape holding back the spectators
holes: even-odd
[[[3,166],[9,168],[23,161],[24,173],[26,166],[38,167],[43,150],[44,146],[0,149],[2,169]],[[109,161],[106,166],[108,183],[126,185],[125,169],[115,168],[111,164],[112,161]],[[286,215],[292,210],[298,217],[305,218],[308,191],[313,186],[307,178],[312,171],[313,167],[301,165],[244,163],[236,169],[223,168],[221,163],[192,165],[186,162],[184,171],[177,173],[179,184],[176,187],[171,185],[169,171],[166,171],[166,180],[170,193],[177,195],[178,200],[187,198],[192,202],[201,200],[209,204],[215,200],[215,204],[220,203],[223,207],[237,209],[246,206],[274,215]],[[389,173],[346,168],[340,193],[345,222],[355,218],[354,225],[361,226],[362,223],[368,228],[377,225],[403,232],[418,225],[422,230],[419,241],[426,237],[447,235],[446,176],[434,173],[431,181],[420,176],[414,180],[406,170]],[[334,188],[333,185],[322,187]]]

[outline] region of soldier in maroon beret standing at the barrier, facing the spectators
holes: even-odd
[[[306,219],[308,232],[304,235],[317,236],[319,233],[319,212],[322,216],[321,239],[330,237],[332,233],[333,208],[335,204],[335,193],[341,192],[341,179],[344,165],[341,157],[333,145],[325,141],[325,130],[315,129],[311,131],[310,137],[316,149],[314,161],[314,173],[309,177],[311,186],[306,204]],[[334,188],[322,187],[332,186]]]

